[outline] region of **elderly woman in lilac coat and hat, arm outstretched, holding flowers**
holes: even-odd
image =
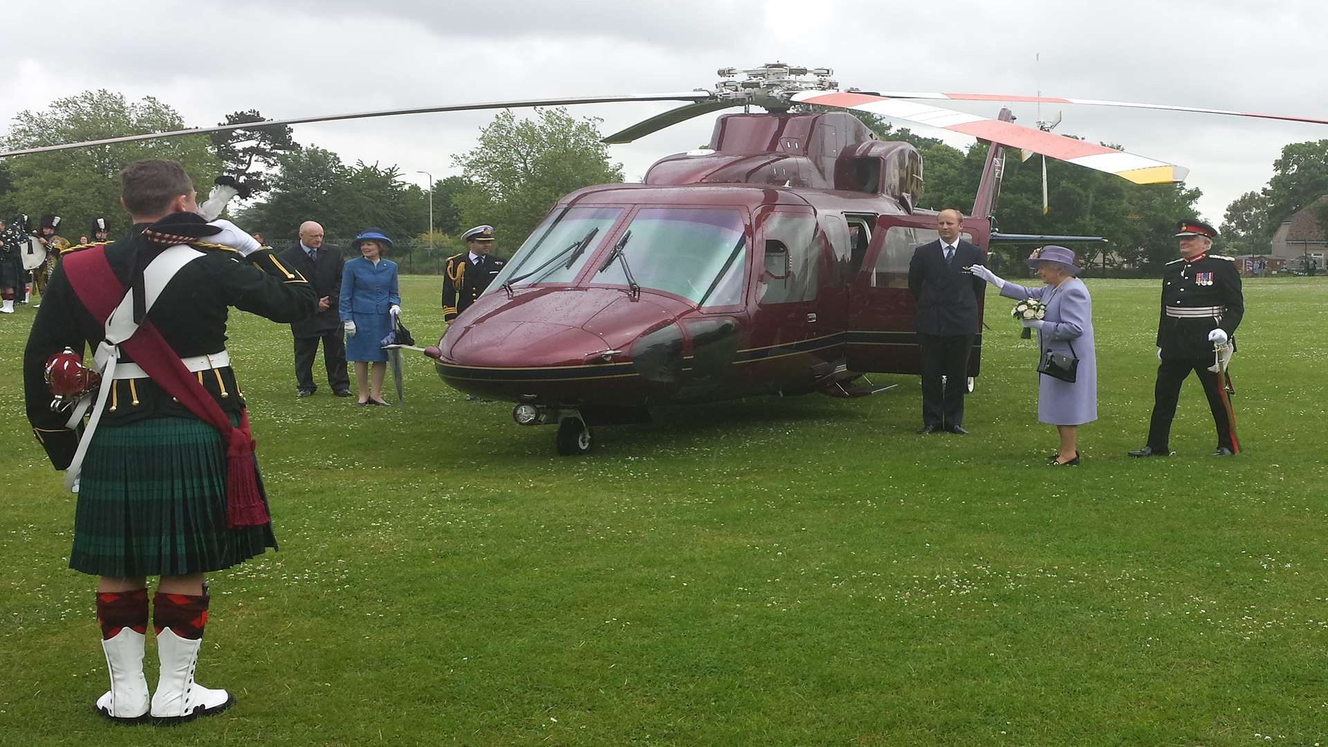
[[[1093,302],[1074,253],[1064,246],[1044,246],[1028,258],[1028,266],[1045,283],[1027,288],[997,278],[981,265],[972,266],[973,276],[1000,290],[1000,295],[1024,300],[1036,298],[1046,304],[1044,319],[1028,319],[1025,327],[1037,330],[1038,351],[1054,351],[1078,358],[1074,381],[1061,381],[1038,375],[1037,420],[1056,425],[1061,445],[1052,464],[1073,467],[1080,463],[1078,427],[1097,420],[1097,358],[1093,352]],[[1038,354],[1041,356],[1041,354]]]

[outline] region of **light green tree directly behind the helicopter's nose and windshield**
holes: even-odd
[[[623,181],[610,163],[599,120],[576,120],[567,109],[537,109],[535,120],[510,110],[479,130],[469,153],[454,157],[473,189],[453,201],[462,226],[489,223],[498,250],[515,249],[564,194],[588,185]]]

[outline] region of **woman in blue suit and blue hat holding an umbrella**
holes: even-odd
[[[392,249],[392,239],[381,229],[365,229],[351,246],[360,257],[347,262],[341,271],[339,311],[345,327],[345,359],[355,362],[360,404],[386,405],[382,376],[388,371],[388,354],[380,346],[392,331],[392,314],[401,314],[397,263],[382,258],[382,253]]]

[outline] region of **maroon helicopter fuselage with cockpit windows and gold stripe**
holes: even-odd
[[[559,201],[448,327],[438,374],[588,424],[916,374],[908,261],[936,238],[936,214],[914,207],[920,175],[912,146],[843,113],[721,117],[710,148],[645,183]],[[964,230],[985,250],[985,219]]]

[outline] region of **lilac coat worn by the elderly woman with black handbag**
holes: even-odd
[[[1023,300],[1036,298],[1046,304],[1046,318],[1037,331],[1037,350],[1053,350],[1080,359],[1073,384],[1037,376],[1037,420],[1052,425],[1082,425],[1097,420],[1097,355],[1093,351],[1093,302],[1084,280],[1070,278],[1057,287],[1025,288],[1005,283],[1000,295]],[[1041,352],[1038,352],[1038,358]]]

